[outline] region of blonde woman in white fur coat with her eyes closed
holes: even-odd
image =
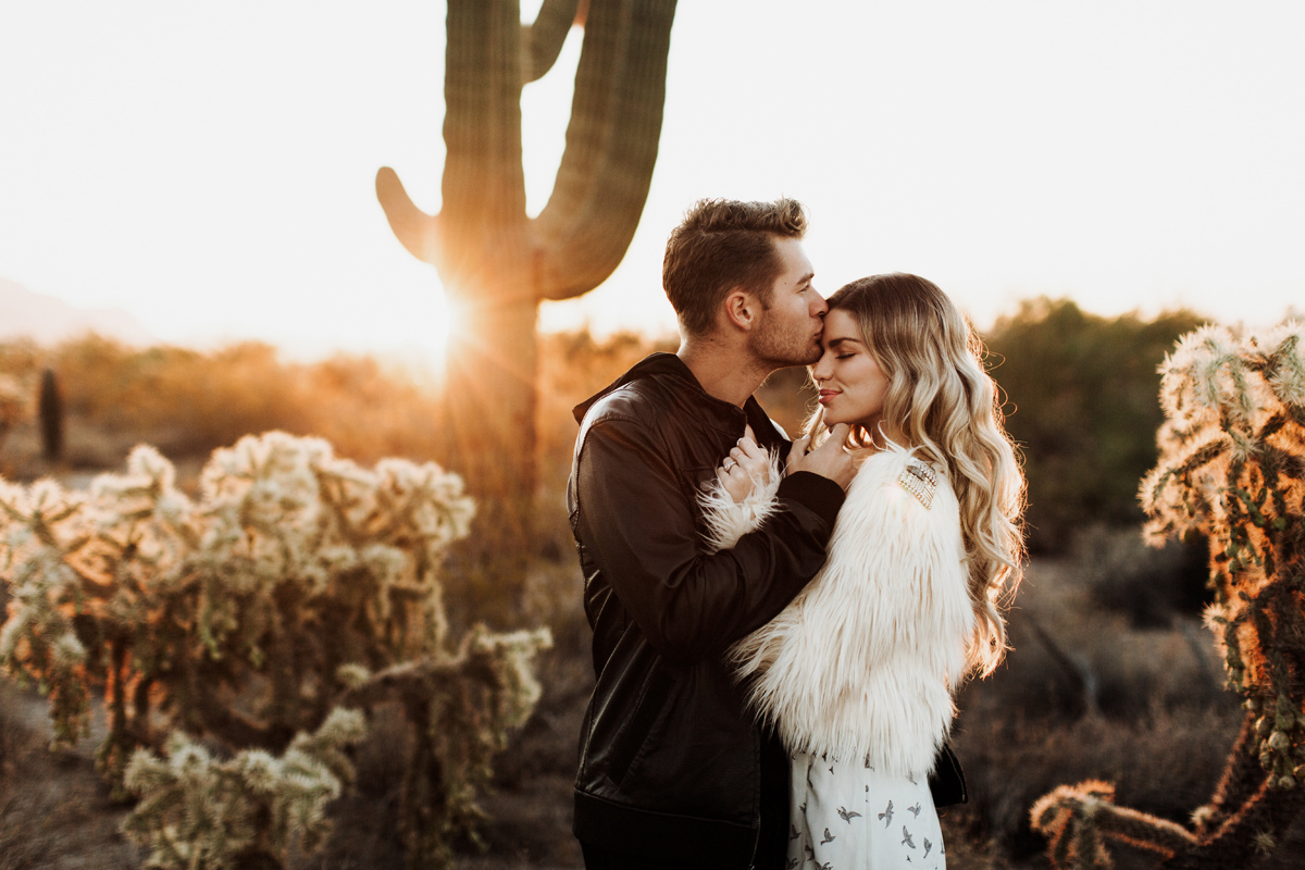
[[[792,758],[788,863],[945,867],[928,776],[953,693],[1006,648],[1023,476],[983,346],[915,275],[829,299],[820,410],[795,449],[850,424],[861,462],[822,571],[731,656]],[[705,496],[713,548],[767,513],[778,463],[744,440]]]

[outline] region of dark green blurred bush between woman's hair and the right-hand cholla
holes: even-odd
[[[1142,519],[1137,480],[1155,464],[1156,367],[1201,323],[1190,312],[1104,318],[1030,300],[985,337],[1028,479],[1030,547],[1064,552],[1087,524]]]

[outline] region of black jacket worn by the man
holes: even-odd
[[[843,490],[791,475],[778,514],[709,556],[697,494],[745,423],[762,445],[787,451],[761,406],[715,399],[679,357],[654,353],[576,416],[568,509],[598,677],[581,733],[576,836],[748,867],[766,738],[722,652],[820,570]]]

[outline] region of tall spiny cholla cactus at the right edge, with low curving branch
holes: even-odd
[[[1235,867],[1272,850],[1305,809],[1305,326],[1262,338],[1203,327],[1160,367],[1167,423],[1142,481],[1146,533],[1210,540],[1206,625],[1246,721],[1191,828],[1112,803],[1099,783],[1034,807],[1057,867],[1112,866],[1105,840],[1167,856],[1167,867]]]

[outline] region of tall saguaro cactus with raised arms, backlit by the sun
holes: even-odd
[[[442,210],[420,211],[393,170],[377,172],[394,235],[436,267],[457,310],[444,460],[482,503],[523,505],[534,488],[539,303],[596,287],[634,235],[656,160],[673,16],[675,0],[544,0],[522,25],[518,0],[449,0]],[[521,89],[548,72],[573,22],[585,40],[566,149],[531,219]]]

